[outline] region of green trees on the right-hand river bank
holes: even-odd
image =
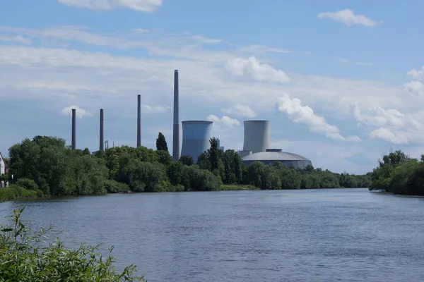
[[[371,173],[369,189],[424,196],[424,154],[420,161],[400,150],[384,155]]]

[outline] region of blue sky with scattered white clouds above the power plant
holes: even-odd
[[[242,149],[243,121],[314,167],[367,173],[390,149],[424,153],[421,0],[13,0],[0,6],[0,152],[25,137],[172,149],[180,121],[213,121]],[[182,137],[182,134],[180,134]],[[172,153],[172,152],[171,152]]]

